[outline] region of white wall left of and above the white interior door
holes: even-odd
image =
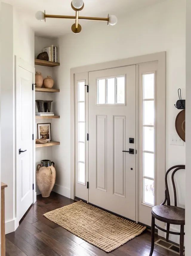
[[[5,231],[15,229],[15,55],[34,65],[34,32],[13,6],[1,5],[1,180],[5,190]],[[6,25],[5,25],[6,24]]]

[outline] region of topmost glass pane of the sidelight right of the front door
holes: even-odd
[[[143,75],[143,99],[154,99],[154,73]]]

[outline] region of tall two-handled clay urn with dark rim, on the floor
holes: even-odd
[[[41,160],[41,164],[36,166],[36,183],[42,197],[49,197],[56,180],[56,169],[54,162]]]

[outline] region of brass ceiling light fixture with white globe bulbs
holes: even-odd
[[[66,16],[66,15],[48,15],[42,11],[38,11],[36,13],[36,19],[42,21],[44,20],[46,22],[46,18],[59,18],[59,19],[75,19],[76,22],[72,25],[71,29],[72,32],[75,34],[80,33],[81,31],[81,25],[78,23],[79,19],[83,20],[97,20],[97,21],[107,21],[107,25],[115,25],[117,23],[117,17],[115,15],[107,16],[107,18],[97,18],[97,17],[83,17],[79,16],[79,11],[81,11],[84,8],[84,2],[83,0],[73,0],[71,2],[71,7],[76,12],[76,16]]]

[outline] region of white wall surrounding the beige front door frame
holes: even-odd
[[[88,22],[88,21],[84,21]],[[70,192],[70,68],[128,57],[167,52],[166,87],[166,168],[185,163],[185,145],[170,145],[170,134],[176,134],[174,107],[178,88],[185,94],[185,1],[167,0],[138,10],[125,18],[118,17],[115,26],[92,22],[92,27],[80,34],[72,32],[58,39],[60,66],[54,69],[60,88],[56,107],[61,115],[55,127],[61,142],[54,148],[57,164],[56,184],[64,195]],[[163,170],[162,170],[163,171]],[[179,205],[184,206],[184,171],[178,175]]]

